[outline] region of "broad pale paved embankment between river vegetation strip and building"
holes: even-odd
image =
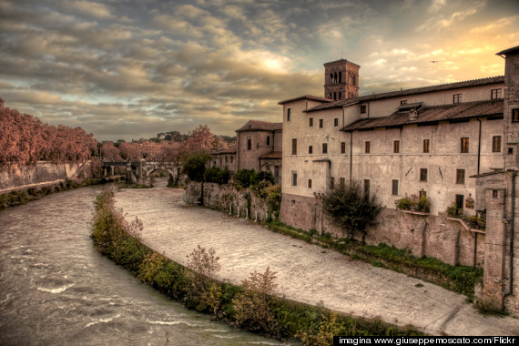
[[[124,189],[117,192],[116,205],[127,220],[141,219],[143,242],[171,260],[187,264],[198,245],[216,249],[219,280],[239,284],[250,272],[270,267],[278,272],[279,295],[290,300],[322,301],[332,310],[412,324],[435,335],[519,335],[518,319],[484,317],[461,294],[273,233],[250,220],[187,205],[183,194],[169,188]]]

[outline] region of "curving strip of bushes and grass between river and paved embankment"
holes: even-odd
[[[124,219],[114,205],[114,192],[98,195],[92,239],[97,249],[143,282],[216,319],[261,335],[305,345],[331,345],[333,335],[422,335],[411,326],[398,328],[377,319],[340,314],[321,306],[276,297],[276,273],[250,273],[241,286],[210,278],[218,272],[214,249],[198,246],[184,267],[149,249],[139,240],[142,222]]]

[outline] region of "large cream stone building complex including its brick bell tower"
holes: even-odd
[[[364,192],[376,193],[386,207],[368,242],[483,267],[484,300],[519,313],[514,280],[519,47],[499,55],[506,58],[505,76],[363,97],[358,97],[360,66],[343,59],[325,64],[327,98],[279,103],[281,221],[341,234],[323,215],[322,197],[358,179]],[[412,196],[429,198],[430,210],[396,209],[399,199]],[[450,218],[446,210],[453,206],[457,213],[486,217],[486,231]]]

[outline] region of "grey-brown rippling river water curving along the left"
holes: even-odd
[[[101,190],[0,211],[0,345],[280,344],[187,310],[99,255],[89,234]]]

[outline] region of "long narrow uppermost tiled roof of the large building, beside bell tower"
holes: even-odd
[[[514,48],[511,48],[511,49],[514,49]],[[425,93],[432,93],[432,92],[444,91],[444,90],[452,90],[452,89],[458,89],[458,88],[462,88],[462,87],[486,86],[486,85],[499,84],[499,83],[504,83],[504,76],[491,76],[488,78],[465,80],[463,82],[441,84],[438,86],[422,86],[422,87],[416,87],[416,88],[400,90],[400,91],[391,91],[388,93],[366,95],[363,97],[351,97],[351,98],[346,98],[344,100],[331,102],[326,105],[319,105],[316,107],[311,107],[311,108],[305,110],[305,112],[313,112],[316,110],[327,109],[327,108],[347,107],[347,106],[351,106],[351,105],[354,105],[357,103],[367,102],[367,101],[372,101],[372,100],[377,100],[377,99],[383,99],[383,98],[406,97],[409,95],[425,94]]]

